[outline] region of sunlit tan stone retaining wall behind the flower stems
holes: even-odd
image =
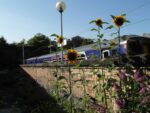
[[[22,66],[25,72],[27,72],[35,81],[37,81],[42,87],[51,89],[56,83],[56,75],[64,76],[69,79],[68,67],[51,67],[51,66]],[[117,70],[109,72],[108,69],[103,69],[105,77],[117,76]],[[101,73],[102,69],[98,67],[72,67],[71,77],[73,94],[81,97],[83,95],[83,84],[81,79],[85,77],[86,81],[86,92],[91,96],[95,96],[93,86],[97,84],[97,75]],[[64,83],[67,87],[69,83],[62,79],[59,82]]]

